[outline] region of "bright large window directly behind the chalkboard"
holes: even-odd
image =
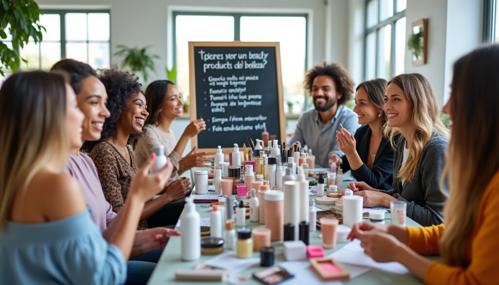
[[[306,14],[174,12],[174,60],[177,85],[189,94],[189,41],[277,41],[280,46],[284,101],[305,100]],[[287,60],[286,60],[287,59]],[[294,111],[301,111],[294,104]]]

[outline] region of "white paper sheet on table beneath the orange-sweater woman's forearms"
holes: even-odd
[[[407,268],[398,262],[375,262],[364,253],[364,249],[360,246],[359,240],[348,243],[346,246],[332,253],[329,257],[332,257],[341,264],[364,266],[393,274],[406,274],[409,272]]]

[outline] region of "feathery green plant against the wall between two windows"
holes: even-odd
[[[138,48],[120,44],[116,47],[119,48],[119,50],[114,53],[114,56],[124,57],[123,61],[121,61],[121,66],[129,67],[133,72],[141,72],[142,76],[144,76],[144,81],[147,81],[148,71],[155,71],[154,59],[159,58],[158,55],[149,54],[147,52],[150,45]]]

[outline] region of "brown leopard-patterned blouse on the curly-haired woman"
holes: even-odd
[[[90,152],[99,173],[100,184],[106,200],[118,213],[125,203],[132,180],[139,170],[133,157],[132,147],[127,145],[130,153],[131,165],[123,155],[109,142],[102,141],[96,144]],[[145,220],[139,222],[138,230],[147,229]]]

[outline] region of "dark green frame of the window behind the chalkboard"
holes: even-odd
[[[303,70],[307,71],[308,66],[308,49],[309,49],[309,14],[306,12],[296,13],[278,13],[278,12],[217,12],[217,11],[186,11],[186,10],[173,10],[172,11],[172,58],[175,62],[177,60],[177,16],[233,16],[234,17],[234,40],[241,40],[241,17],[304,17],[305,18],[305,62],[303,62]],[[281,58],[282,60],[282,58]],[[304,74],[305,74],[304,73]],[[285,96],[285,94],[283,94]],[[307,96],[303,92],[304,100],[302,110],[306,109]]]

